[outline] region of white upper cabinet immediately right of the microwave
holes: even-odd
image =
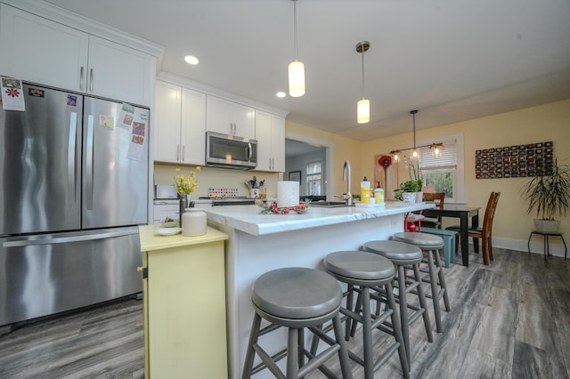
[[[285,171],[285,118],[256,110],[257,167]]]

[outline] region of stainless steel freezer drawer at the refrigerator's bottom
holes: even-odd
[[[0,238],[0,326],[142,291],[138,228]]]

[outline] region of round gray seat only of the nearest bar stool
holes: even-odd
[[[257,278],[251,301],[259,310],[277,318],[319,319],[338,310],[342,290],[326,272],[288,268]]]

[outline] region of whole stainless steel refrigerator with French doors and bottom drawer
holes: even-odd
[[[0,110],[0,327],[142,291],[149,109],[24,84]]]

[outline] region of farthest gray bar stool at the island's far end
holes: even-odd
[[[431,298],[434,303],[437,333],[443,333],[444,327],[442,327],[442,316],[439,307],[439,302],[442,297],[444,298],[445,310],[448,312],[451,310],[449,296],[447,294],[447,286],[445,285],[444,270],[439,256],[439,252],[444,251],[444,239],[433,234],[411,232],[395,233],[394,239],[396,241],[418,246],[421,251],[426,253],[428,258],[428,269],[422,270],[422,272],[427,273],[428,278],[423,278],[423,281],[428,282],[431,285],[431,294],[427,294],[426,296]]]

